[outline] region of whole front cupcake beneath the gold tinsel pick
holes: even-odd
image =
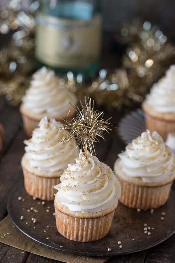
[[[120,196],[120,184],[110,167],[80,151],[60,181],[54,187],[58,190],[54,204],[60,234],[80,242],[106,236]]]

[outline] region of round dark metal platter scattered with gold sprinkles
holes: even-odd
[[[19,196],[25,200],[19,201]],[[31,207],[38,210],[38,212],[31,211]],[[45,205],[42,205],[41,200],[33,200],[26,193],[23,181],[20,181],[12,189],[7,209],[13,223],[24,234],[37,242],[66,252],[89,256],[121,255],[138,252],[156,246],[175,232],[175,192],[173,190],[171,190],[168,202],[155,209],[152,214],[150,210],[138,212],[119,203],[107,236],[98,241],[87,243],[71,241],[61,236],[56,229],[53,215],[54,202],[47,201]],[[164,220],[161,221],[160,217],[163,212],[166,215]],[[24,217],[23,220],[20,219],[21,216]],[[37,219],[36,224],[31,220],[32,217]],[[148,230],[151,235],[144,234],[143,225],[145,223],[151,227]],[[121,241],[122,249],[119,248],[118,241]],[[108,251],[108,248],[111,250]]]

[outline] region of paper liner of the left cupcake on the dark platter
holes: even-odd
[[[29,195],[41,200],[54,200],[54,194],[57,190],[54,185],[60,183],[59,177],[41,177],[30,173],[23,167],[24,187]]]

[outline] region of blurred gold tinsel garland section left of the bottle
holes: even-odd
[[[21,101],[29,84],[29,76],[35,70],[34,38],[35,19],[33,17],[38,2],[30,5],[27,13],[21,11],[20,0],[11,0],[0,8],[0,32],[13,31],[7,47],[0,51],[0,95],[16,105]]]

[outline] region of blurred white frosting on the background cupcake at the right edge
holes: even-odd
[[[152,86],[146,101],[158,112],[175,112],[175,65],[171,65],[166,75]]]

